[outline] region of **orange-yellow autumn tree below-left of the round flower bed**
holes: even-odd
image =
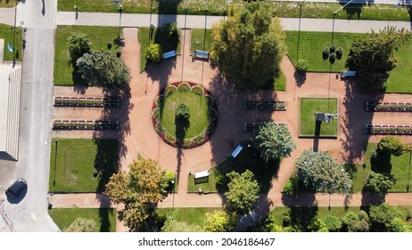
[[[119,211],[119,220],[131,231],[152,231],[157,215],[152,209],[163,199],[165,171],[152,159],[140,158],[111,176],[105,194],[116,204],[125,204]]]

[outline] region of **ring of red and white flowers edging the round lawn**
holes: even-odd
[[[155,117],[153,117],[153,111],[154,111],[155,109],[157,109],[157,108],[161,108],[161,103],[160,103],[159,105],[157,104],[157,100],[158,100],[158,97],[159,97],[159,96],[167,96],[168,94],[172,93],[172,92],[170,92],[170,93],[168,93],[168,94],[165,94],[165,89],[166,89],[167,87],[169,87],[169,86],[175,86],[175,87],[176,87],[176,90],[177,90],[178,87],[179,87],[179,85],[182,84],[182,83],[183,83],[183,84],[188,84],[188,85],[190,86],[190,91],[194,91],[194,92],[196,92],[197,94],[201,95],[201,93],[199,93],[199,92],[197,92],[197,91],[195,91],[195,90],[193,89],[194,86],[202,87],[202,86],[199,85],[199,84],[196,84],[196,83],[193,83],[193,82],[190,82],[190,81],[177,81],[177,82],[173,82],[173,83],[169,84],[168,86],[164,87],[164,88],[161,90],[161,92],[159,93],[158,96],[156,96],[156,98],[155,98],[155,100],[154,100],[154,102],[153,102],[153,104],[152,104],[152,124],[153,124],[153,129],[156,131],[156,133],[161,137],[161,139],[162,139],[165,143],[169,144],[170,146],[182,147],[182,148],[185,148],[185,149],[189,149],[189,148],[194,148],[194,147],[197,147],[197,146],[202,146],[203,144],[205,144],[205,143],[209,140],[209,138],[210,138],[213,130],[216,128],[216,125],[217,125],[217,123],[218,123],[218,109],[217,109],[216,103],[214,102],[213,96],[210,95],[209,90],[207,90],[206,88],[202,87],[202,89],[203,89],[202,96],[205,97],[205,98],[207,98],[206,101],[207,101],[207,104],[209,105],[210,110],[211,110],[211,109],[214,109],[215,112],[216,112],[216,114],[215,114],[216,117],[214,117],[214,119],[209,122],[208,128],[204,131],[204,135],[201,134],[201,135],[197,136],[197,137],[202,137],[202,136],[204,137],[203,140],[202,140],[202,142],[201,142],[201,143],[196,143],[194,140],[195,140],[195,138],[197,138],[197,137],[189,138],[188,140],[190,140],[190,141],[188,141],[188,142],[186,141],[186,142],[183,143],[183,144],[181,144],[181,143],[179,144],[177,141],[174,141],[174,142],[170,141],[170,140],[167,138],[168,136],[170,136],[169,134],[167,135],[164,130],[157,129],[157,128],[158,128],[158,123],[160,122],[160,121],[159,121],[159,120],[160,120],[160,117],[158,118],[159,120],[156,119]],[[175,91],[176,91],[176,90],[175,90]],[[188,89],[188,91],[189,91],[189,89]],[[163,98],[164,98],[164,97],[163,97]],[[161,124],[161,123],[160,123],[160,124]],[[210,127],[212,127],[212,128],[210,129]],[[171,136],[171,137],[173,137],[173,136]],[[176,137],[175,137],[175,139],[176,139]]]

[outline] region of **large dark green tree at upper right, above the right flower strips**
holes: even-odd
[[[411,33],[408,29],[387,27],[379,32],[372,30],[364,37],[355,39],[346,67],[358,71],[358,83],[366,90],[382,90],[389,71],[396,67],[394,53],[403,46]]]

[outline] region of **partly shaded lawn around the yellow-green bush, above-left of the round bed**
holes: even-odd
[[[179,30],[179,35],[181,29]],[[160,44],[163,53],[176,50],[177,52],[180,51],[180,42],[176,37],[169,38],[167,34],[164,34],[164,30],[154,28],[153,33],[149,28],[139,28],[137,33],[137,40],[140,44],[140,71],[144,71],[146,68],[146,58],[144,53],[146,48],[151,44]]]

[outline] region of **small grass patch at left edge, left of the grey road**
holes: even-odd
[[[13,2],[14,3],[14,2]],[[0,6],[1,7],[1,6]],[[4,39],[4,60],[12,61],[12,52],[7,49],[7,44],[13,46],[13,51],[16,54],[16,60],[21,61],[21,28],[16,28],[16,40],[14,43],[14,30],[12,26],[0,24],[0,39]],[[0,48],[2,49],[2,48]]]

